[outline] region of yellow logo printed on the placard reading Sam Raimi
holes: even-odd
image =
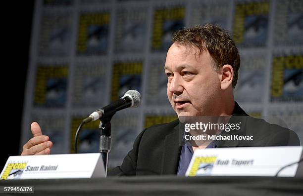
[[[27,162],[8,163],[1,176],[1,180],[20,179]]]

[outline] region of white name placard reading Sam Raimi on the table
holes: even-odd
[[[11,156],[1,180],[104,177],[100,153]]]

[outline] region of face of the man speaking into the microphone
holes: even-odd
[[[167,52],[167,96],[178,117],[215,116],[220,78],[208,51],[174,43]]]

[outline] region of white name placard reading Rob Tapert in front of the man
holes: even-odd
[[[212,148],[195,151],[186,176],[275,176],[298,162],[302,146]],[[298,163],[278,176],[294,177]]]

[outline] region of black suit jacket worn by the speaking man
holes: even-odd
[[[232,118],[236,116],[244,117],[244,124],[242,124],[243,128],[233,134],[253,136],[253,141],[220,141],[218,148],[300,145],[295,132],[269,124],[263,119],[249,117],[237,103],[235,103]],[[184,133],[179,131],[179,126],[177,119],[168,124],[158,124],[144,129],[136,138],[133,149],[124,158],[121,166],[110,170],[108,175],[177,174],[182,149],[180,141]],[[231,133],[223,132],[222,134]]]

